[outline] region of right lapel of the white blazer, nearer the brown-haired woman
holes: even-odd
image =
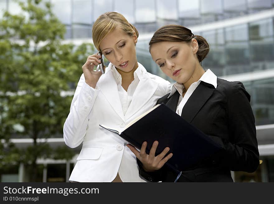
[[[140,63],[138,63],[138,66],[142,71],[142,75],[139,79],[139,83],[135,89],[135,92],[133,93],[130,106],[125,113],[125,120],[128,120],[137,111],[139,111],[144,106],[144,104],[148,102],[149,99],[153,96],[158,87],[158,82],[152,80],[149,77],[144,66]]]

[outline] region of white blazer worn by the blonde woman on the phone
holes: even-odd
[[[66,145],[74,148],[83,143],[70,181],[111,182],[119,170],[123,182],[145,182],[139,177],[135,155],[113,133],[99,126],[123,130],[126,124],[154,107],[160,97],[171,91],[167,80],[148,73],[140,63],[138,65],[142,75],[125,115],[111,63],[95,89],[85,83],[82,74],[64,123]]]

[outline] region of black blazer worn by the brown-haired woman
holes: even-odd
[[[176,111],[180,94],[176,91],[157,102]],[[250,95],[241,82],[217,79],[217,88],[203,81],[187,100],[182,118],[224,147],[210,158],[183,171],[178,182],[233,182],[230,171],[254,172],[259,165],[255,119]],[[149,181],[174,182],[177,173],[163,166],[145,172],[137,159],[139,174]]]

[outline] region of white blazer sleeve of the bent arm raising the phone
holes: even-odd
[[[69,115],[64,123],[64,141],[67,146],[75,148],[83,142],[88,116],[98,92],[99,90],[86,84],[84,74],[82,74],[71,102]]]

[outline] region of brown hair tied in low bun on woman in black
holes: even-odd
[[[149,50],[151,45],[159,42],[187,42],[195,38],[198,42],[199,49],[197,51],[197,58],[201,62],[209,52],[209,44],[206,39],[200,35],[192,34],[191,30],[182,25],[164,25],[152,36],[149,42]]]

